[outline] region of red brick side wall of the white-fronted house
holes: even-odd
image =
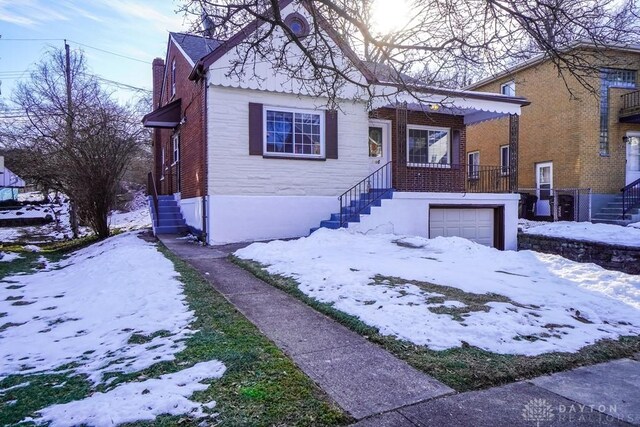
[[[172,94],[171,68],[176,64],[175,94]],[[169,41],[167,63],[156,58],[153,63],[154,108],[181,99],[182,123],[175,129],[154,130],[154,160],[156,182],[161,194],[181,193],[182,199],[203,196],[206,192],[205,177],[205,108],[204,80],[190,81],[188,76],[193,66]],[[160,66],[162,65],[162,68]],[[162,86],[164,84],[164,87]],[[164,89],[164,90],[162,90]],[[156,103],[157,102],[157,103]],[[180,137],[180,160],[173,158],[172,138]],[[164,151],[164,164],[162,152]],[[164,174],[162,173],[164,171]]]

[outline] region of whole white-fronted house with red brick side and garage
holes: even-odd
[[[297,20],[292,29],[313,22],[304,6],[281,5]],[[517,129],[524,98],[417,82],[424,102],[401,93],[369,110],[361,89],[345,85],[340,108],[328,110],[327,99],[264,63],[259,78],[226,75],[235,46],[259,25],[224,43],[171,33],[165,60],[153,62],[154,111],[143,123],[155,128],[157,233],[180,231],[184,220],[210,244],[322,226],[515,248],[513,183],[498,166],[470,170],[465,155],[469,124],[506,117]],[[388,69],[359,61],[325,29],[353,62],[353,78],[378,93],[391,87]]]

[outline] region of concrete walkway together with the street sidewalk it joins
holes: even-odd
[[[640,426],[640,355],[454,394],[226,260],[243,245],[212,248],[159,237],[360,420],[356,426]]]

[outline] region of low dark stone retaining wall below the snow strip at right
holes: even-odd
[[[592,262],[609,270],[640,274],[640,248],[518,233],[518,249]]]

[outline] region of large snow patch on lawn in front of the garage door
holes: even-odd
[[[382,334],[434,350],[466,342],[537,355],[640,334],[640,276],[555,255],[501,252],[455,237],[326,229],[293,241],[254,243],[236,255],[295,278],[305,294]],[[484,295],[486,301],[473,306],[456,290],[503,297]]]

